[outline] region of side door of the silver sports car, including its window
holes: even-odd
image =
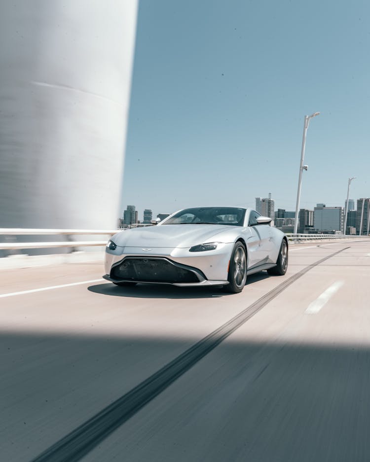
[[[253,210],[248,220],[248,228],[250,229],[250,236],[247,241],[249,268],[266,263],[270,253],[271,227],[268,224],[257,223],[259,216],[261,215]]]

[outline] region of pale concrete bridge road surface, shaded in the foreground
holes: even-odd
[[[250,276],[237,295],[116,287],[100,263],[1,271],[2,460],[369,461],[370,241],[289,258],[286,276]],[[138,385],[174,359],[179,378],[135,407]]]

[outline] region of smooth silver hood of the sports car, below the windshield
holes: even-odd
[[[213,225],[213,224],[175,224],[162,226],[148,226],[145,228],[133,228],[112,237],[112,241],[120,247],[161,247],[161,248],[187,248],[205,242],[212,242],[213,238],[225,234],[229,237],[230,231],[236,226]],[[224,241],[218,236],[220,242]]]

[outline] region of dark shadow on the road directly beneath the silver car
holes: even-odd
[[[265,271],[253,274],[247,278],[247,286],[268,278]],[[233,295],[224,292],[221,286],[208,287],[176,287],[170,284],[137,284],[134,287],[119,287],[111,283],[94,284],[87,287],[87,290],[102,295],[126,298],[216,298]]]

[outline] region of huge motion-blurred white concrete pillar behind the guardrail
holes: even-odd
[[[0,227],[117,224],[137,0],[0,5]]]

